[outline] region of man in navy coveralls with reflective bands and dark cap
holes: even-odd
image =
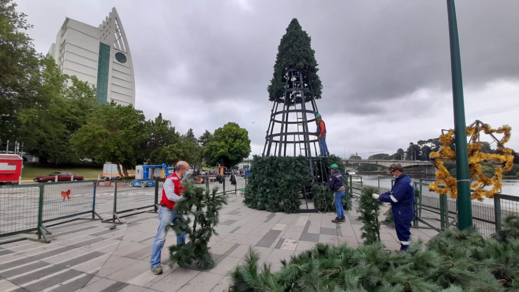
[[[397,230],[400,250],[406,250],[411,239],[411,222],[415,217],[415,193],[411,178],[404,174],[404,168],[400,163],[391,164],[389,172],[395,180],[393,187],[389,192],[373,194],[373,198],[391,203],[394,229]]]

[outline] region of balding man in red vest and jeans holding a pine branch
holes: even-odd
[[[181,182],[183,177],[187,177],[189,174],[189,164],[185,161],[179,161],[175,165],[174,174],[168,176],[164,180],[162,188],[162,200],[159,203],[159,228],[157,230],[157,236],[152,246],[152,258],[151,267],[152,273],[155,275],[162,274],[162,267],[160,267],[160,254],[164,243],[166,242],[166,234],[168,230],[166,227],[169,224],[173,224],[176,220],[175,203],[183,199],[182,192],[186,189],[182,187]],[[176,244],[185,244],[186,234],[176,235]]]

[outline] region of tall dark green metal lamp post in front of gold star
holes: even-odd
[[[447,0],[450,39],[450,67],[453,81],[454,135],[456,144],[456,178],[458,180],[458,228],[472,227],[472,204],[470,200],[469,156],[463,103],[463,82],[459,54],[458,24],[454,0]]]

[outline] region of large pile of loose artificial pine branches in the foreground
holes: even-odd
[[[506,219],[506,227],[493,237],[451,229],[427,245],[413,241],[400,253],[379,242],[358,248],[319,243],[282,261],[276,273],[260,266],[251,250],[230,273],[229,291],[517,292],[518,219]]]

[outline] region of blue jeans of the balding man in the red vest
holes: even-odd
[[[166,226],[169,224],[173,224],[176,220],[176,211],[170,210],[166,207],[159,207],[159,228],[157,229],[157,236],[155,236],[155,241],[152,246],[152,259],[151,259],[151,267],[160,266],[160,253],[162,252],[162,247],[164,247],[164,243],[166,242],[166,234],[168,234],[168,230]],[[176,235],[176,244],[185,244],[186,242],[186,233],[182,232],[179,236]]]

